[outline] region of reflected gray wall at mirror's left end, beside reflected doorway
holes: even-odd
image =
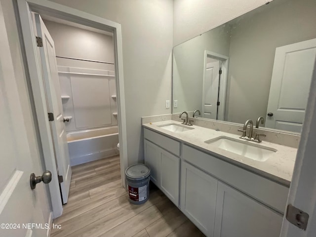
[[[173,100],[178,100],[181,111],[200,110],[202,107],[205,50],[229,55],[231,29],[228,24],[173,48]]]

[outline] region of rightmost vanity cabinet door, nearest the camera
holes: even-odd
[[[283,216],[219,182],[214,237],[278,237]]]

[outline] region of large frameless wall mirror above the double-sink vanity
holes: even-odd
[[[316,57],[316,0],[274,0],[173,48],[172,113],[300,133]]]

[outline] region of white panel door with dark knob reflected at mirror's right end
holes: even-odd
[[[315,55],[316,39],[276,48],[266,127],[301,132]]]

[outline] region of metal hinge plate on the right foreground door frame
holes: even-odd
[[[291,204],[288,204],[286,209],[286,219],[294,226],[297,226],[298,228],[305,231],[307,228],[308,218],[308,213],[298,209],[295,206],[292,206]]]

